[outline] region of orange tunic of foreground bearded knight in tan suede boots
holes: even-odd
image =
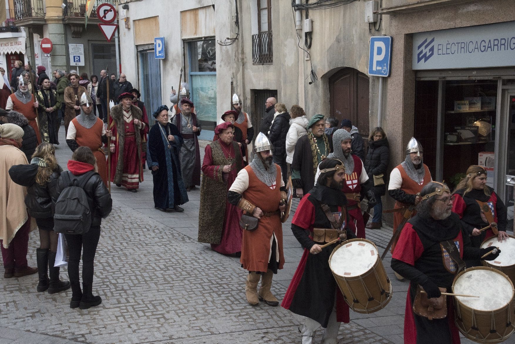
[[[250,166],[245,167],[249,175],[249,187],[243,193],[243,198],[260,208],[264,213],[279,210],[279,202],[281,201],[280,185],[282,177],[281,168],[278,165],[276,165],[276,167],[277,183],[273,190],[256,177]],[[266,272],[268,270],[272,233],[276,236],[277,248],[279,250],[278,268],[283,268],[283,228],[281,217],[278,214],[270,217],[261,217],[258,228],[254,231],[243,231],[242,256],[240,262],[244,269],[261,272]]]

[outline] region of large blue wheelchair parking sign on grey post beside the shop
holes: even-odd
[[[379,76],[379,97],[377,102],[377,126],[383,122],[383,79],[390,75],[391,36],[370,37],[370,54],[368,57],[368,75]]]

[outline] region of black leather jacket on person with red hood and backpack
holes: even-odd
[[[82,182],[84,174],[78,176],[71,176],[70,179],[77,179],[77,183]],[[59,178],[57,185],[57,193],[52,195],[52,201],[57,202],[59,195],[66,188],[68,184],[63,181],[62,176]],[[91,226],[100,226],[102,218],[106,218],[113,208],[113,200],[111,194],[107,190],[106,185],[100,178],[99,174],[94,174],[84,186],[84,191],[88,197],[88,204],[92,213]]]

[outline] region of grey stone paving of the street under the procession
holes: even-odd
[[[56,155],[65,168],[71,151],[61,144]],[[148,170],[136,194],[113,185],[113,212],[102,222],[95,257],[94,291],[102,304],[84,311],[71,309],[71,290],[37,293],[37,275],[2,279],[0,343],[300,342],[297,328],[302,317],[264,303],[249,306],[246,271],[238,259],[197,242],[200,191],[188,196],[184,213],[163,213],[153,208]],[[274,276],[272,286],[279,299],[302,255],[289,223],[283,226],[285,268]],[[37,247],[38,235],[33,232],[31,266],[36,266]],[[390,303],[370,315],[351,312],[351,322],[340,327],[340,344],[403,342],[408,283],[393,277],[389,262],[387,257],[384,266],[394,290]],[[66,268],[62,272],[65,279]],[[321,336],[319,330],[316,342]]]

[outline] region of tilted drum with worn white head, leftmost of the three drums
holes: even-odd
[[[357,238],[341,243],[331,253],[329,266],[354,312],[373,313],[390,302],[391,283],[371,241]]]

